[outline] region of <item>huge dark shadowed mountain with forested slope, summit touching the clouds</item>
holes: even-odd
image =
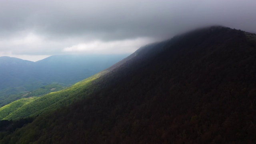
[[[212,26],[144,46],[33,122],[1,121],[0,142],[255,143],[255,36]]]

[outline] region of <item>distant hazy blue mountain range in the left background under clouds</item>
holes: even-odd
[[[74,84],[125,58],[119,55],[56,55],[37,62],[0,57],[0,96],[30,91],[46,83]],[[21,88],[19,88],[21,89]]]

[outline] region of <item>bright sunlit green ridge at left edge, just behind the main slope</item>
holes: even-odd
[[[22,98],[20,100],[16,100],[10,104],[7,104],[0,108],[0,120],[4,119],[6,116],[17,110],[18,108],[24,106],[35,100],[37,97],[30,97],[30,98]]]

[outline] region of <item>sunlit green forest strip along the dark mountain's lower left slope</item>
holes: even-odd
[[[36,117],[43,113],[48,113],[50,111],[56,110],[57,108],[62,108],[64,106],[68,106],[73,102],[78,100],[82,100],[88,94],[95,91],[97,88],[93,87],[93,81],[99,78],[100,76],[107,73],[107,71],[100,72],[90,78],[86,78],[85,80],[74,84],[70,88],[66,88],[65,90],[60,90],[58,92],[51,92],[50,94],[46,94],[37,98],[33,102],[29,104],[23,105],[8,116],[6,116],[5,120],[18,120],[20,118],[26,117]],[[51,88],[44,86],[40,89]],[[41,92],[41,90],[36,90],[36,94]],[[81,90],[88,89],[86,92],[81,94]]]

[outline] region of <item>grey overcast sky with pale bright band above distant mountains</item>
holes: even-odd
[[[256,0],[0,0],[0,56],[128,54],[210,25],[256,32]]]

